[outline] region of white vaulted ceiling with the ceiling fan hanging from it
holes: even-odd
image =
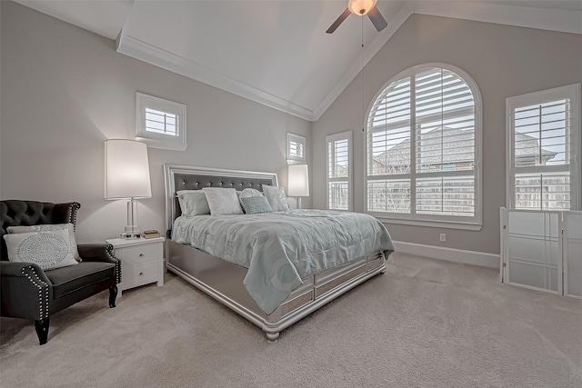
[[[114,39],[121,54],[310,121],[415,13],[582,34],[579,0],[379,0],[385,30],[349,15],[332,35],[347,0],[17,2]]]

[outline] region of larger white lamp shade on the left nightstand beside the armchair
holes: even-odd
[[[147,145],[135,140],[106,140],[105,199],[151,196]]]

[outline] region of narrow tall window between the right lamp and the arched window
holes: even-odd
[[[352,132],[330,134],[327,143],[327,208],[352,210]]]

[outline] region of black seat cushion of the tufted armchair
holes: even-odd
[[[63,268],[45,271],[46,277],[53,284],[55,299],[67,293],[96,284],[104,280],[115,279],[115,264],[102,262],[82,262]]]

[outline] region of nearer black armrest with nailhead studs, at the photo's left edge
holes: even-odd
[[[42,320],[48,317],[53,285],[36,264],[0,262],[2,316]]]

